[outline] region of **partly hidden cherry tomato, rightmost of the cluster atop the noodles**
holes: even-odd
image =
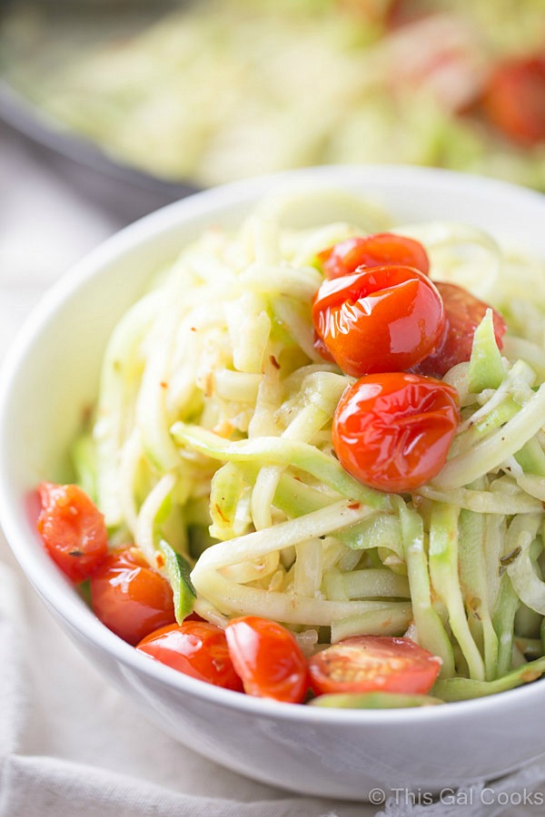
[[[471,358],[475,330],[484,318],[486,310],[491,307],[475,298],[468,290],[463,290],[455,284],[437,281],[435,286],[439,290],[445,308],[443,338],[437,349],[421,360],[413,371],[442,378],[456,363],[462,363]],[[507,330],[507,324],[496,310],[492,309],[492,316],[496,342],[498,348],[501,349],[503,346],[501,339]]]

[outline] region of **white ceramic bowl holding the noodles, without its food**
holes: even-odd
[[[151,271],[210,223],[240,221],[285,182],[334,184],[381,202],[395,221],[480,225],[545,257],[545,199],[444,171],[302,170],[199,193],[125,229],[78,264],[27,321],[0,387],[0,519],[51,612],[104,676],[182,743],[264,783],[365,798],[374,787],[437,792],[490,779],[545,753],[536,714],[545,681],[461,704],[394,711],[275,704],[150,661],[94,617],[46,556],[27,497],[54,479],[82,408],[94,401],[104,344]]]

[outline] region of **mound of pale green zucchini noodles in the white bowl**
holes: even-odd
[[[441,658],[443,700],[533,680],[545,669],[545,266],[468,225],[391,225],[508,334],[500,351],[489,310],[471,360],[445,376],[461,423],[439,474],[384,494],[335,456],[332,418],[353,379],[314,349],[311,306],[317,253],[386,216],[337,191],[329,212],[317,198],[277,197],[237,232],[206,232],[126,313],[74,444],[79,482],[113,545],[134,541],[171,582],[158,552],[183,557],[194,609],[216,624],[268,617],[309,649],[409,633]],[[342,221],[340,202],[362,223]]]

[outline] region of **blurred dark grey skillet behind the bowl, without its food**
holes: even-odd
[[[7,70],[10,60],[16,60],[18,55],[14,55],[13,37],[11,49],[3,47],[2,34],[3,24],[12,9],[16,6],[19,14],[23,5],[28,13],[39,14],[40,23],[45,26],[40,42],[42,52],[49,50],[54,54],[62,47],[60,44],[67,34],[88,43],[112,30],[132,33],[174,4],[161,0],[151,4],[150,9],[149,3],[138,0],[41,0],[25,4],[20,0],[0,0],[0,123],[23,137],[48,162],[53,162],[55,169],[85,195],[126,221],[195,192],[198,187],[189,180],[168,182],[140,172],[109,158],[83,137],[54,128],[38,107],[18,93]],[[25,44],[19,58],[28,59]]]

